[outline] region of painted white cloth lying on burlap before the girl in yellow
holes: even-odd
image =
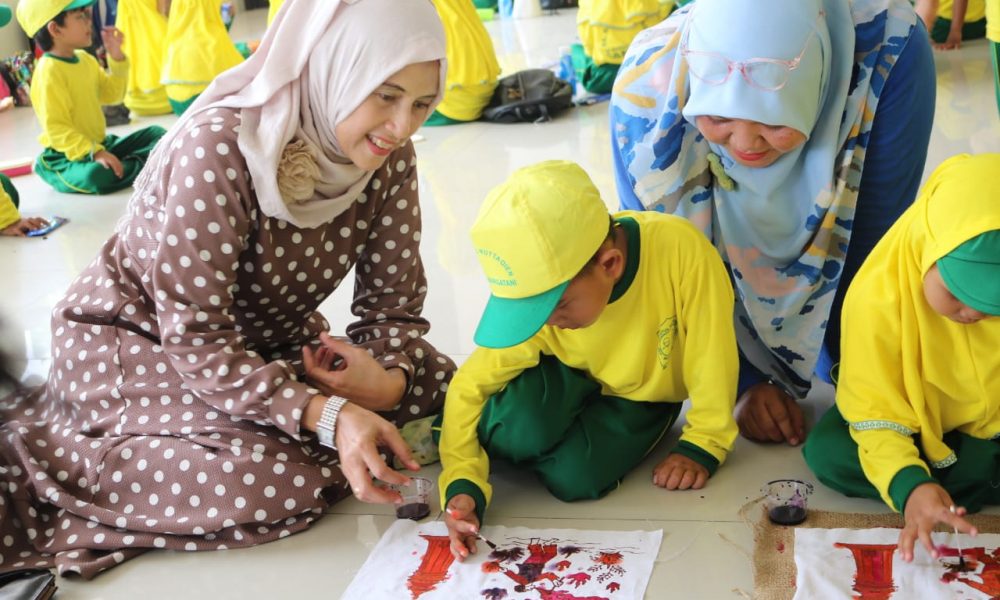
[[[853,589],[856,586],[868,586],[866,590],[873,594],[881,586],[894,587],[892,600],[989,600],[1000,594],[996,577],[1000,558],[992,554],[1000,548],[1000,535],[970,537],[938,532],[932,533],[931,539],[944,554],[942,558],[931,558],[918,541],[913,562],[905,563],[895,548],[899,540],[898,529],[796,529],[795,600],[854,598],[858,595]],[[958,540],[961,540],[966,565],[971,569],[967,573],[953,573],[948,568],[948,565],[958,564]],[[886,548],[852,550],[844,544]],[[879,570],[880,558],[889,555],[890,551],[891,570]],[[855,552],[862,561],[867,557],[872,559],[867,561],[868,567],[862,567],[871,569],[871,573],[858,573]],[[876,574],[880,577],[871,576]],[[890,576],[886,578],[886,575]]]

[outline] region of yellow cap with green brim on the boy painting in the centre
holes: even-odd
[[[535,335],[609,223],[600,192],[576,163],[524,167],[494,188],[471,231],[491,292],[476,344],[507,348]]]

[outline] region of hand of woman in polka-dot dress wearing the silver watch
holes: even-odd
[[[306,413],[303,425],[316,430],[316,423],[326,404],[323,396],[314,396]],[[388,446],[399,457],[407,469],[419,471],[420,465],[413,460],[410,447],[399,435],[396,426],[370,410],[348,402],[337,415],[337,452],[340,454],[340,469],[351,484],[351,491],[362,502],[398,504],[402,502],[398,492],[375,485],[372,478],[386,483],[406,484],[410,478],[393,470],[379,455],[379,446]]]

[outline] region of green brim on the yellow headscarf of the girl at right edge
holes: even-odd
[[[937,265],[948,290],[962,303],[1000,315],[1000,229],[963,242]]]

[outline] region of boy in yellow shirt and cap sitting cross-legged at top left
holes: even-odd
[[[132,185],[162,127],[124,138],[105,135],[101,104],[117,104],[125,93],[128,62],[122,35],[101,32],[110,74],[84,48],[91,44],[94,0],[21,0],[17,20],[45,52],[31,82],[31,104],[42,125],[45,147],[35,172],[60,192],[108,194]]]

